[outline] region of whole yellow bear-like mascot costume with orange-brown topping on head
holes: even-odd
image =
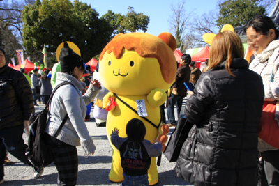
[[[165,149],[169,127],[161,123],[159,106],[167,100],[165,91],[175,79],[175,49],[176,40],[166,32],[158,37],[149,33],[119,34],[103,49],[99,64],[100,81],[110,91],[103,98],[103,105],[110,104],[110,100],[116,103],[107,115],[108,139],[114,127],[119,128],[119,137],[127,137],[126,124],[132,118],[139,118],[146,127],[144,139],[153,142],[158,138]],[[141,102],[144,104],[139,107]],[[109,178],[113,182],[121,182],[123,169],[120,153],[111,146]],[[156,183],[156,157],[151,157],[149,185]]]

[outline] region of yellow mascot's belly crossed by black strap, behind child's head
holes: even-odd
[[[147,111],[147,115],[148,115],[146,118],[149,119],[149,121],[152,121],[156,126],[160,125],[160,117],[161,117],[160,109],[158,107],[153,108],[153,107],[151,107],[151,105],[149,105],[149,103],[146,100],[147,95],[137,95],[137,96],[125,95],[125,97],[123,97],[121,95],[118,95],[118,96],[119,96],[119,98],[121,98],[121,100],[123,100],[124,102],[129,104],[130,107],[133,107],[133,109],[135,109],[136,111],[137,111],[137,106],[136,106],[135,100],[144,99],[146,111]],[[127,125],[128,121],[130,121],[133,118],[138,118],[138,119],[142,120],[142,122],[144,123],[144,125],[146,127],[146,135],[145,135],[144,139],[147,139],[147,140],[151,141],[151,143],[153,143],[153,139],[156,139],[156,137],[158,135],[158,128],[153,127],[153,125],[151,125],[151,123],[149,123],[148,121],[145,121],[142,117],[140,117],[134,111],[129,109],[125,104],[123,104],[117,98],[115,98],[115,102],[117,105],[116,105],[114,111],[112,111],[112,112],[109,111],[107,114],[107,137],[108,137],[108,139],[110,139],[110,134],[112,134],[112,130],[114,130],[114,127],[119,129],[119,137],[127,137],[126,125]],[[114,150],[119,151],[112,144],[111,144],[111,146],[112,146],[112,148],[114,148]]]

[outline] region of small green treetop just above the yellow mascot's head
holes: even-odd
[[[135,13],[134,8],[130,6],[126,16],[114,14],[111,10],[108,10],[102,18],[110,23],[112,29],[114,29],[114,35],[126,33],[126,31],[136,32],[142,30],[146,32],[149,24],[149,16],[143,13]]]

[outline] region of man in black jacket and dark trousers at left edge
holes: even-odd
[[[23,129],[28,130],[29,117],[34,112],[29,82],[21,72],[8,67],[5,51],[0,47],[0,183],[3,183],[3,162],[6,149],[24,164],[31,163],[25,156],[27,145],[22,139]],[[35,169],[38,178],[43,169]]]

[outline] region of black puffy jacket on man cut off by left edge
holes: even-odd
[[[26,77],[8,65],[0,68],[0,130],[23,125],[32,112],[33,95]]]

